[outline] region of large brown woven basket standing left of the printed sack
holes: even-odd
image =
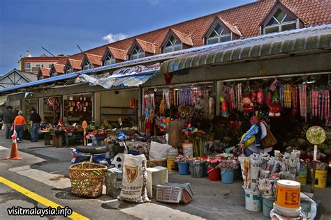
[[[96,198],[102,194],[103,178],[107,166],[82,162],[69,167],[71,194],[75,196]]]

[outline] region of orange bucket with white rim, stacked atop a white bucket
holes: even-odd
[[[293,180],[278,180],[276,192],[276,205],[289,209],[300,207],[300,182]]]

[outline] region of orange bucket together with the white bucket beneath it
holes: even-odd
[[[278,180],[274,212],[284,217],[298,217],[300,207],[300,182]]]

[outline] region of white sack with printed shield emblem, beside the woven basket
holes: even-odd
[[[149,202],[146,190],[146,164],[145,155],[124,155],[120,201],[132,203]]]

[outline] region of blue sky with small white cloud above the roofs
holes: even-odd
[[[1,0],[0,74],[29,50],[76,54],[254,0]],[[48,55],[48,54],[47,54]]]

